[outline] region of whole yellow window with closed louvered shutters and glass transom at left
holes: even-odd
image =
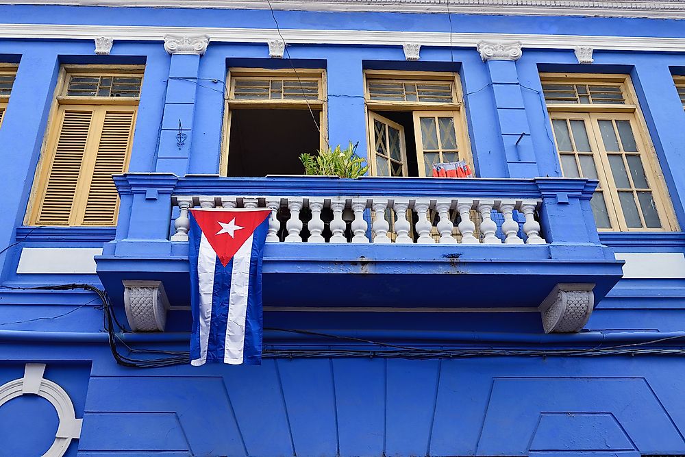
[[[141,84],[139,66],[62,69],[29,223],[116,224]]]

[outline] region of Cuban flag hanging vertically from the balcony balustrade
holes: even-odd
[[[262,362],[262,255],[269,209],[190,210],[190,364]]]

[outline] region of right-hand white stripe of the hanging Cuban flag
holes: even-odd
[[[247,317],[247,295],[250,286],[252,238],[253,235],[250,235],[233,256],[231,293],[228,297],[228,323],[223,353],[223,362],[231,365],[242,363],[245,350],[245,317]]]

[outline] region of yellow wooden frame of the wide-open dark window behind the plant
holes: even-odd
[[[319,83],[319,94],[316,99],[236,99],[235,81],[236,79],[288,79],[291,81],[316,81]],[[219,174],[228,174],[228,151],[231,136],[231,118],[234,110],[254,110],[254,109],[296,109],[319,111],[319,147],[328,147],[328,127],[327,127],[327,88],[326,72],[320,69],[249,69],[232,68],[229,69],[226,77],[227,94],[225,96],[225,110],[223,119],[223,135],[221,140],[221,158],[219,160]],[[313,121],[313,120],[312,120]]]

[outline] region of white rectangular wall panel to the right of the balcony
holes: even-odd
[[[624,279],[681,279],[685,278],[685,256],[677,252],[630,252],[615,254],[625,260]]]

